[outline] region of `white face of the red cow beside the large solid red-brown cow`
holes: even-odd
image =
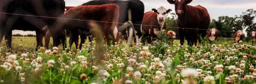
[[[161,6],[157,10],[156,9],[152,9],[152,11],[157,13],[157,20],[158,20],[158,23],[161,26],[161,31],[162,31],[163,26],[165,25],[165,19],[167,17],[167,14],[171,11],[171,9],[166,10],[165,7]]]

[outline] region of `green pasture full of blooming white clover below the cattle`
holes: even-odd
[[[35,37],[13,37],[10,53],[2,41],[0,83],[256,82],[256,47],[249,42],[219,40],[193,47],[181,47],[178,40],[133,47],[110,42],[99,49],[87,40],[81,51],[53,47],[37,52],[35,46]]]

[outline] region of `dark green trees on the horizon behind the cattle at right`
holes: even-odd
[[[241,15],[234,16],[219,16],[217,19],[211,19],[210,28],[217,28],[219,30],[219,37],[233,37],[233,33],[238,30],[246,29],[247,36],[250,37],[251,31],[256,31],[256,23],[254,22],[256,10],[248,9],[242,12]],[[171,14],[166,19],[167,30],[177,32],[177,15]]]

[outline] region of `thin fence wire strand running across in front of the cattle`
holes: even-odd
[[[52,17],[52,16],[38,16],[38,15],[26,15],[26,14],[14,14],[14,13],[7,13],[7,12],[0,12],[0,14],[7,14],[7,15],[18,15],[18,16],[33,16],[38,18],[53,18],[53,19],[65,19],[65,20],[77,20],[77,21],[86,21],[86,22],[98,22],[98,23],[115,23],[115,22],[103,22],[98,20],[86,20],[86,19],[71,19],[71,18],[59,18],[59,17]],[[124,23],[117,23],[117,24],[124,24]],[[152,26],[152,25],[145,25],[145,24],[133,24],[137,26],[151,26],[151,27],[161,27],[161,26]],[[183,27],[170,27],[167,26],[165,28],[177,28],[177,29],[190,29],[190,30],[205,30],[209,31],[209,29],[198,29],[198,28],[183,28]],[[218,30],[222,32],[235,32],[235,31],[226,31],[226,30]]]

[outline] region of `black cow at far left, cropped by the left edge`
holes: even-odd
[[[49,27],[51,33],[58,29],[58,17],[65,10],[64,0],[0,0],[0,41],[5,36],[6,44],[11,49],[12,30],[35,31],[37,47],[43,46],[42,38],[45,35],[42,28]],[[50,18],[55,17],[55,18]],[[63,37],[55,36],[63,33],[54,33],[54,45],[59,45]]]

